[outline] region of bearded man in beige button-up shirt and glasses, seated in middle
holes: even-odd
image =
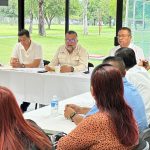
[[[88,53],[77,44],[77,33],[75,31],[68,31],[65,42],[65,45],[58,48],[51,63],[45,66],[45,69],[47,71],[54,71],[54,67],[60,65],[60,72],[85,71],[88,67]]]

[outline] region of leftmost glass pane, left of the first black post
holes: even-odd
[[[9,64],[17,42],[18,0],[9,0],[8,6],[0,6],[0,63]]]

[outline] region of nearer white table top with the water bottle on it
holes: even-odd
[[[51,107],[45,106],[43,108],[26,112],[24,117],[26,119],[34,120],[42,129],[52,130],[52,131],[63,131],[69,133],[76,125],[67,120],[64,117],[64,108],[66,104],[76,104],[83,107],[92,107],[95,101],[91,94],[84,93],[78,96],[74,96],[59,102],[58,115],[51,115]]]

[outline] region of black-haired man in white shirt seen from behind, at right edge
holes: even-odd
[[[150,123],[150,76],[144,67],[138,66],[135,52],[131,48],[120,48],[115,56],[121,57],[126,67],[126,78],[139,91],[146,110],[148,123]]]

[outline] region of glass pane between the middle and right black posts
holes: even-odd
[[[90,56],[106,56],[114,47],[116,0],[70,1],[70,30],[78,33],[79,43]],[[99,64],[99,60],[92,61]]]

